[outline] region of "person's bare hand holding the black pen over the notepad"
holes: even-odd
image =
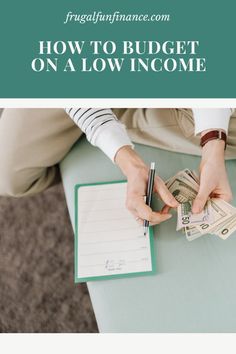
[[[155,176],[154,192],[158,193],[165,206],[161,211],[153,211],[145,204],[149,168],[139,155],[130,147],[123,146],[115,156],[115,162],[127,177],[126,207],[141,224],[148,220],[152,224],[159,224],[171,218],[170,208],[176,208],[178,202],[168,191],[165,183],[159,176]]]

